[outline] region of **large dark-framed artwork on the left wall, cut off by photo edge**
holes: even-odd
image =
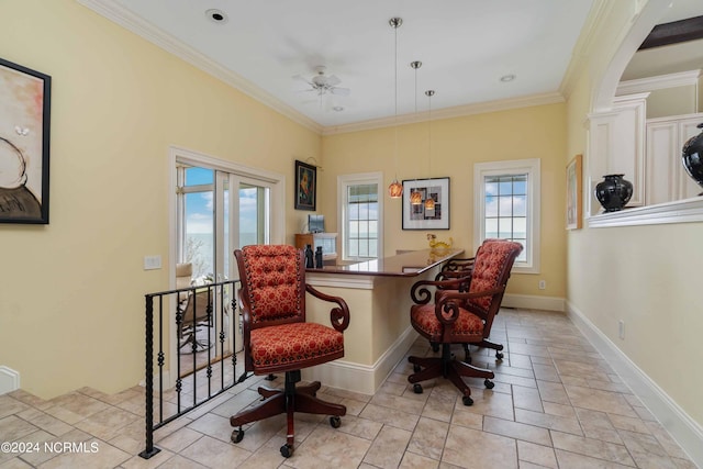
[[[52,77],[0,58],[0,223],[48,224]]]

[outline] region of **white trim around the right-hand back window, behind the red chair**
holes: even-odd
[[[539,273],[539,192],[540,163],[539,158],[515,159],[510,161],[477,163],[473,165],[473,187],[477,189],[473,198],[473,252],[483,243],[486,232],[486,185],[487,176],[527,174],[527,259],[515,263],[515,273]]]

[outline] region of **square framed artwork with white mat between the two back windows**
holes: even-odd
[[[420,192],[422,203],[410,203]],[[425,209],[425,200],[434,199],[434,210]],[[403,230],[449,230],[449,178],[403,180]]]

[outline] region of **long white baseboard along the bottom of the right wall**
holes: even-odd
[[[683,448],[691,460],[698,467],[703,468],[703,427],[571,303],[567,303],[567,315]]]

